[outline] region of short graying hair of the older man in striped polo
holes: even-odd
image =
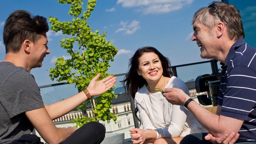
[[[212,3],[214,3],[215,6],[209,5],[209,7],[201,8],[194,14],[192,24],[198,21],[212,29],[216,23],[222,21],[228,27],[230,40],[236,41],[239,38],[244,38],[242,18],[239,14],[239,10],[232,4],[216,1]],[[209,15],[211,15],[211,17],[209,17]]]

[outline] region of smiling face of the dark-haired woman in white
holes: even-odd
[[[158,55],[153,52],[142,54],[137,72],[148,83],[159,81],[163,74],[163,67]]]

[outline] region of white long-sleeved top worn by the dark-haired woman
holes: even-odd
[[[189,95],[187,85],[172,76],[165,88],[179,88]],[[196,132],[208,132],[183,106],[169,103],[161,92],[151,94],[144,85],[135,94],[143,129],[163,131],[163,137],[185,136]]]

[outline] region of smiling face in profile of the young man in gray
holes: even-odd
[[[38,40],[31,47],[31,68],[41,67],[46,54],[50,54],[50,49],[47,46],[48,40],[41,35]]]

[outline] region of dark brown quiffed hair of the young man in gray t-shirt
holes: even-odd
[[[34,16],[25,11],[17,10],[9,15],[5,21],[3,39],[6,53],[18,53],[24,40],[36,42],[40,35],[46,36],[49,31],[47,19]]]

